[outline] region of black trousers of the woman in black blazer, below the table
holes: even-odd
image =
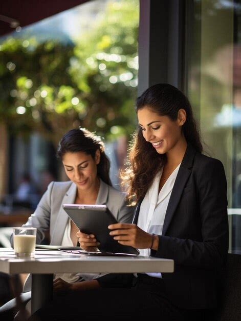
[[[133,319],[158,317],[160,321],[201,321],[202,310],[184,310],[171,304],[163,280],[138,274],[130,288],[99,288],[55,297],[30,318],[39,320],[95,320],[100,317]]]

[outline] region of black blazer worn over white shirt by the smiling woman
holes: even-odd
[[[141,202],[134,213],[135,224]],[[162,273],[162,277],[170,301],[181,308],[216,306],[217,285],[228,253],[227,204],[222,163],[188,144],[170,196],[158,250],[151,250],[151,256],[174,260],[174,273]],[[98,280],[105,286],[104,276],[101,278]]]

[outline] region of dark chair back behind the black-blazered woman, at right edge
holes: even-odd
[[[215,321],[241,320],[241,255],[228,254]]]

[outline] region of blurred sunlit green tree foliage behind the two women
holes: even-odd
[[[8,37],[0,45],[0,121],[57,143],[73,127],[113,138],[136,124],[137,0],[107,3],[92,28],[63,45]]]

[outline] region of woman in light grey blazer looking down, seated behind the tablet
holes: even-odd
[[[62,209],[65,204],[106,204],[119,222],[131,223],[133,208],[126,206],[125,194],[112,187],[109,160],[99,136],[80,128],[61,138],[57,157],[62,160],[68,182],[51,182],[25,227],[36,227],[36,244],[50,231],[50,245],[76,246],[78,228]],[[11,244],[13,240],[11,236]],[[72,283],[98,277],[93,274],[55,275],[55,292],[66,290]],[[28,276],[23,292],[31,290]],[[26,298],[30,294],[25,295]]]

